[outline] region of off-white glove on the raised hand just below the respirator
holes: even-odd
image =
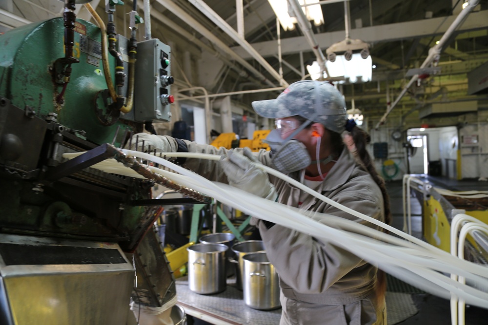
[[[255,163],[260,164],[249,148],[244,148],[242,153],[229,150],[220,160],[230,185],[274,201],[276,190],[266,172],[254,166]]]

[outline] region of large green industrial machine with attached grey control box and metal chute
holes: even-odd
[[[107,8],[99,28],[65,0],[63,18],[0,36],[0,324],[123,325],[130,299],[175,297],[150,201],[171,182],[90,168],[116,158],[147,173],[120,148],[173,102],[170,48],[137,42],[134,24],[118,36]]]

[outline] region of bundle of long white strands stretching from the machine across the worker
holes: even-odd
[[[241,210],[249,215],[282,224],[285,227],[308,233],[323,241],[353,251],[354,254],[360,256],[369,263],[375,264],[399,279],[402,279],[413,286],[420,287],[432,294],[449,299],[452,293],[466,301],[468,304],[485,308],[488,305],[488,293],[461,284],[439,273],[449,272],[478,283],[487,283],[488,285],[488,280],[484,278],[488,276],[488,268],[455,258],[441,249],[437,249],[402,231],[387,226],[374,218],[348,209],[331,201],[320,193],[309,189],[303,184],[290,179],[286,175],[267,168],[266,166],[256,164],[257,167],[266,172],[285,179],[299,188],[303,187],[304,191],[309,192],[319,199],[324,200],[329,204],[333,203],[334,206],[341,210],[345,210],[348,213],[370,221],[378,226],[382,226],[385,229],[394,230],[392,232],[401,235],[408,241],[387,235],[357,222],[332,215],[327,215],[327,218],[325,219],[321,218],[323,222],[321,223],[314,220],[314,216],[324,214],[286,207],[283,204],[265,200],[229,185],[211,182],[194,172],[190,172],[152,154],[128,150],[124,150],[124,152],[144,160],[154,161],[155,163],[179,172],[180,174],[176,174],[148,166],[153,172],[162,174],[183,186],[214,197],[225,205]],[[171,157],[185,156],[199,159],[220,159],[220,156],[218,155],[200,153],[158,153],[158,155],[159,154]],[[115,159],[103,161],[92,167],[99,168],[106,172],[143,178],[137,172],[124,167],[122,163],[117,163]],[[253,202],[253,204],[248,204],[248,202]]]

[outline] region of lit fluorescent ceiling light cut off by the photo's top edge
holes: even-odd
[[[288,1],[287,0],[268,0],[271,8],[273,9],[276,17],[280,20],[280,24],[285,31],[294,30],[297,19],[290,17],[288,14]],[[319,0],[298,0],[302,5],[302,10],[308,20],[313,20],[315,26],[324,23],[324,15],[322,14],[322,8],[319,4]]]

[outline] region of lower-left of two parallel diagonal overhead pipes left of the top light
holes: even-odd
[[[242,66],[244,66],[244,68],[246,68],[254,76],[256,76],[258,80],[265,82],[270,87],[276,87],[274,83],[268,80],[263,74],[261,74],[251,64],[249,64],[246,60],[244,60],[244,58],[240,57],[234,51],[232,51],[227,45],[225,45],[225,43],[220,38],[213,35],[212,32],[210,32],[205,27],[203,27],[202,24],[196,21],[193,17],[191,17],[191,15],[189,15],[182,8],[177,6],[173,1],[171,0],[156,0],[156,1],[161,5],[163,5],[164,7],[166,7],[168,10],[170,10],[171,13],[175,14],[178,18],[182,19],[184,22],[190,25],[190,27],[197,30],[200,34],[203,35],[203,37],[207,38],[210,42],[212,42],[217,47],[219,47],[222,51],[224,51],[225,54],[229,55],[230,57],[233,57],[237,62],[239,62]]]

